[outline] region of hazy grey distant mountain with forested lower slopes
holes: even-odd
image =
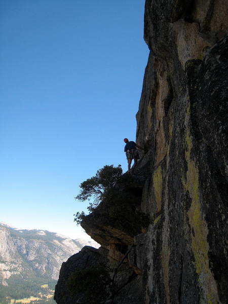
[[[48,298],[62,262],[85,245],[98,246],[94,241],[71,240],[44,230],[18,230],[0,223],[0,304],[45,293],[48,297],[45,300],[43,296],[42,303],[51,302]]]

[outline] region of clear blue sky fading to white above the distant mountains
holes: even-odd
[[[79,184],[127,170],[143,14],[144,0],[0,0],[0,221],[82,237]]]

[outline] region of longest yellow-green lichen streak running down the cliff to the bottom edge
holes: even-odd
[[[199,193],[199,170],[195,161],[191,159],[192,139],[189,131],[186,135],[185,160],[187,162],[186,179],[183,179],[183,186],[188,191],[192,199],[191,207],[187,215],[191,225],[192,250],[195,258],[196,273],[199,275],[199,281],[202,289],[205,291],[207,303],[218,302],[218,292],[214,277],[209,269],[207,242],[207,223],[201,215],[201,201]]]

